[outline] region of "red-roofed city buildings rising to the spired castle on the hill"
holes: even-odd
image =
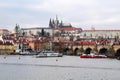
[[[16,24],[14,33],[0,29],[0,53],[19,50],[65,51],[75,45],[120,45],[120,30],[83,30],[56,19],[49,27],[21,28]]]

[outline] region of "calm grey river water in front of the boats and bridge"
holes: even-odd
[[[120,61],[0,55],[0,80],[119,80]]]

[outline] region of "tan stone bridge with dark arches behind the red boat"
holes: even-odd
[[[83,53],[90,54],[120,54],[120,45],[75,45],[67,46],[65,49],[66,54],[81,55]]]

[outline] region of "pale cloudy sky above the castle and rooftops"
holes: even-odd
[[[84,30],[119,29],[120,0],[0,0],[0,28],[48,27],[56,15]]]

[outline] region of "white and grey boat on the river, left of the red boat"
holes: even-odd
[[[62,53],[54,52],[54,51],[42,51],[36,57],[62,57]]]

